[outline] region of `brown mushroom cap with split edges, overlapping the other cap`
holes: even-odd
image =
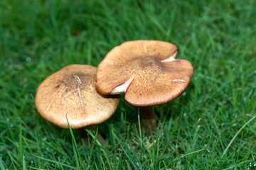
[[[178,47],[158,40],[134,40],[114,47],[97,67],[96,90],[125,93],[132,106],[154,106],[180,96],[191,82],[193,66],[176,60]]]

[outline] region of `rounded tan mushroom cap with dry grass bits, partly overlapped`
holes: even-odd
[[[68,128],[68,122],[73,129],[102,123],[114,113],[120,99],[102,96],[95,90],[95,84],[96,67],[64,67],[40,84],[36,109],[44,119],[61,128]]]

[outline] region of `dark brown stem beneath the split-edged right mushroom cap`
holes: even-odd
[[[156,115],[154,114],[154,106],[142,107],[141,128],[148,130],[149,128],[156,132]]]

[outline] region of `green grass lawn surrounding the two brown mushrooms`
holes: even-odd
[[[256,3],[246,1],[0,1],[0,169],[256,169]],[[38,115],[38,85],[68,64],[97,64],[127,40],[164,40],[191,61],[191,85],[156,106],[116,113],[84,145]]]

